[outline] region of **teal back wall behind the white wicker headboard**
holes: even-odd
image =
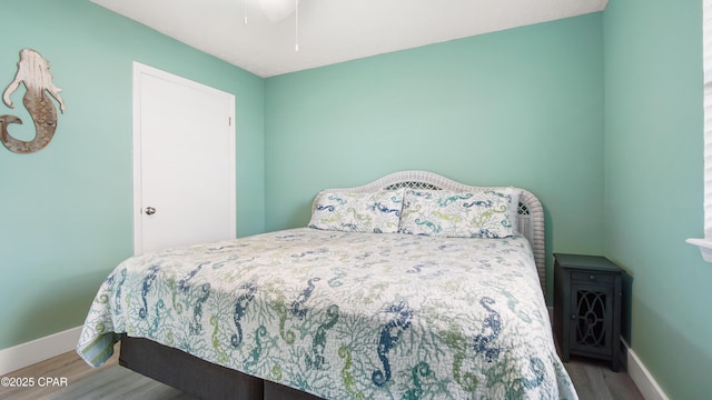
[[[269,78],[266,227],[305,226],[319,189],[422,169],[527,188],[550,254],[601,254],[603,107],[601,13]]]

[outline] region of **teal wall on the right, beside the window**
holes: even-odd
[[[611,0],[605,248],[633,276],[631,346],[671,399],[712,393],[703,237],[702,1]]]

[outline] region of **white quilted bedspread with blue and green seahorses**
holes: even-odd
[[[79,354],[116,333],[327,399],[575,399],[526,239],[299,228],[135,257]]]

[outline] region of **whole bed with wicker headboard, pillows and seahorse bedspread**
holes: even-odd
[[[396,172],[307,227],[121,262],[77,352],[204,399],[576,399],[530,191]]]

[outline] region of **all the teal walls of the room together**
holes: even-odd
[[[236,94],[238,236],[304,226],[319,189],[397,170],[526,187],[544,203],[548,253],[604,253],[630,272],[626,340],[665,392],[712,392],[700,372],[712,370],[712,319],[699,306],[712,268],[684,243],[702,236],[700,0],[611,0],[602,13],[269,79],[88,0],[2,11],[0,89],[33,48],[67,113],[39,153],[0,148],[0,349],[81,324],[131,254],[136,60]],[[13,100],[0,113],[30,136]]]

